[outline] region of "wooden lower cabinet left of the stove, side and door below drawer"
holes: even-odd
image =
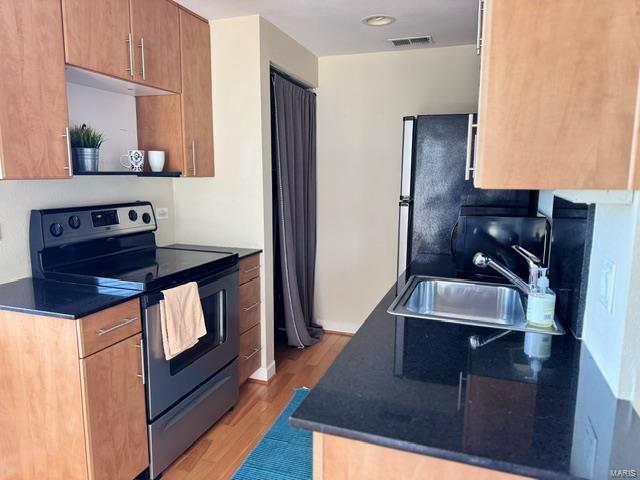
[[[116,324],[122,307],[100,313]],[[147,468],[140,331],[81,358],[83,320],[0,311],[3,480],[127,480]]]

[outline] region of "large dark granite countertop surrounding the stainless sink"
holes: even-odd
[[[412,273],[454,277],[455,267],[429,256]],[[394,317],[386,310],[397,288],[294,412],[293,426],[535,478],[640,472],[638,415],[571,334],[553,338],[541,365],[525,353],[522,332],[471,350],[470,335],[495,330]]]

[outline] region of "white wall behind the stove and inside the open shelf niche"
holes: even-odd
[[[67,90],[70,123],[87,123],[104,132],[107,141],[101,149],[101,170],[115,167],[123,149],[137,146],[134,98],[73,84],[68,84]],[[135,200],[150,200],[155,207],[173,207],[172,180],[75,177],[69,180],[0,181],[0,283],[31,274],[31,209]],[[171,243],[173,229],[172,220],[160,221],[158,243]]]

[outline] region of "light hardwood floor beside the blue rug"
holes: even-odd
[[[350,337],[326,333],[312,347],[276,347],[276,376],[268,385],[247,382],[240,399],[162,476],[163,480],[231,478],[287,405],[293,390],[313,388]]]

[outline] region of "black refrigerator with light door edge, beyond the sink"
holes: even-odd
[[[492,216],[494,226],[536,217],[537,191],[473,186],[475,119],[474,113],[403,119],[398,276],[420,255],[452,254],[461,214]]]

